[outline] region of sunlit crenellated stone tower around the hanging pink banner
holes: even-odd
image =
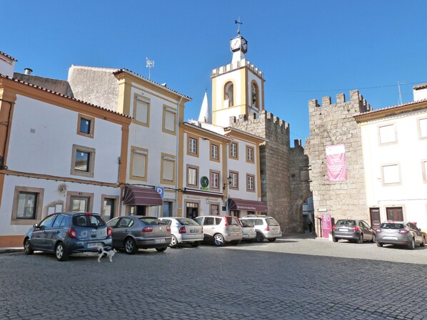
[[[311,171],[314,213],[331,214],[334,220],[341,218],[368,221],[366,191],[363,169],[361,131],[353,115],[371,110],[370,105],[358,93],[350,92],[346,101],[343,93],[331,104],[330,97],[308,103],[310,138],[306,140]],[[346,150],[346,181],[329,182],[326,167],[326,146],[343,144]]]

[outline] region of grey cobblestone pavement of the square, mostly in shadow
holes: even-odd
[[[427,249],[320,239],[0,254],[0,319],[427,319]]]

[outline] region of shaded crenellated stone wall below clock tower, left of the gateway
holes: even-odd
[[[261,111],[259,118],[255,114],[230,117],[230,127],[265,138],[260,148],[261,161],[261,200],[268,205],[268,215],[275,217],[283,232],[301,232],[302,215],[295,215],[291,190],[292,151],[289,144],[288,123],[274,117],[272,113]],[[303,153],[303,149],[299,153]],[[297,167],[299,167],[296,165]],[[301,193],[301,192],[296,192]],[[302,203],[302,202],[301,202]],[[301,208],[300,208],[301,209]]]

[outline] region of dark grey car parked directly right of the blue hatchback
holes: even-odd
[[[156,249],[163,252],[171,243],[171,227],[156,217],[132,215],[116,217],[107,225],[111,227],[114,248],[124,248],[127,254],[138,249]]]

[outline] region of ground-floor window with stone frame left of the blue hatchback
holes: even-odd
[[[14,190],[11,224],[34,224],[41,220],[44,189],[19,187]]]

